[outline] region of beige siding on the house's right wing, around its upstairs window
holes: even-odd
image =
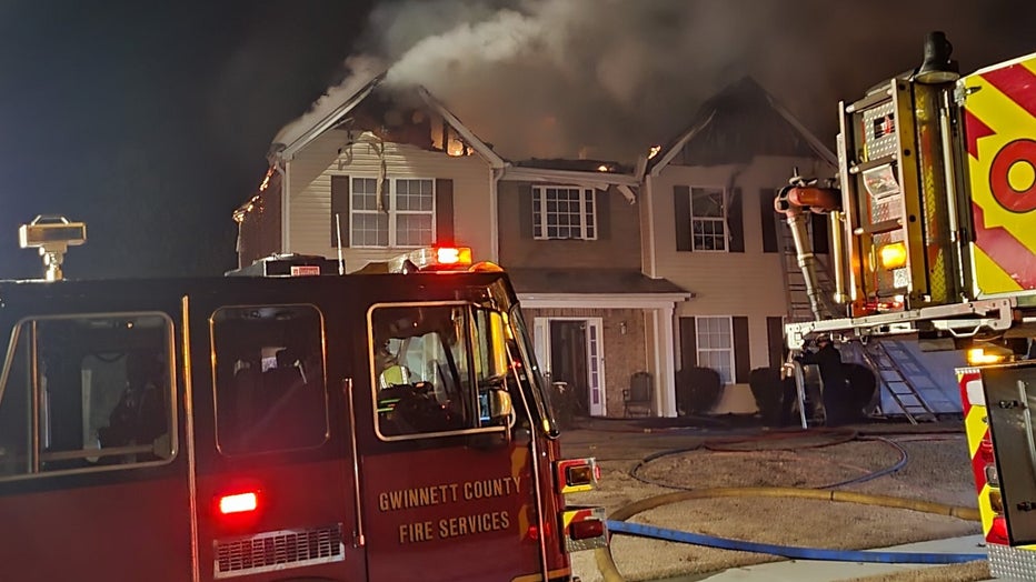
[[[791,168],[805,175],[826,178],[831,170],[814,160],[795,158],[756,159],[737,174],[741,189],[745,252],[677,252],[674,185],[729,185],[733,165],[668,165],[653,180],[650,219],[655,227],[656,275],[695,293],[677,304],[677,317],[746,315],[751,345],[751,368],[768,365],[767,315],[787,313],[779,253],[763,252],[760,190],[787,184]],[[780,234],[780,233],[778,233]],[[678,340],[677,340],[678,341]]]

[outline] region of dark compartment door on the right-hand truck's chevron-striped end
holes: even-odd
[[[983,370],[1012,545],[1036,542],[1036,362]]]

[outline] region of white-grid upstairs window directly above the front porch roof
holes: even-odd
[[[562,185],[532,189],[532,235],[536,239],[597,239],[594,190]]]

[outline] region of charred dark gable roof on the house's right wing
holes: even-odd
[[[815,157],[838,163],[834,152],[751,77],[703,103],[688,128],[648,161],[646,171],[657,175],[685,148],[694,165],[746,163],[755,155]]]

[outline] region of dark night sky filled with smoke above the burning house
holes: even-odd
[[[69,277],[232,267],[271,139],[357,62],[507,158],[631,162],[745,74],[833,144],[837,101],[916,67],[925,32],[970,71],[1036,50],[1034,22],[1007,0],[0,0],[0,277],[40,273],[17,244],[40,213],[89,225]]]

